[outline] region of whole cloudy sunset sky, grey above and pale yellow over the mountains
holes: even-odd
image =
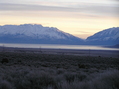
[[[86,39],[119,27],[119,0],[0,0],[0,25],[41,24]]]

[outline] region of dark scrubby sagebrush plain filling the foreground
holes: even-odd
[[[1,52],[0,89],[119,89],[119,59]]]

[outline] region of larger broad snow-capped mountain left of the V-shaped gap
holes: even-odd
[[[83,40],[38,24],[0,26],[0,43],[80,44]]]

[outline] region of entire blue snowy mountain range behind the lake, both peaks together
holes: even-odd
[[[0,26],[0,43],[116,45],[119,27],[109,28],[83,40],[54,27],[38,24]]]

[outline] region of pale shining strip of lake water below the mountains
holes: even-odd
[[[1,47],[15,47],[15,48],[50,48],[50,49],[79,49],[79,50],[117,50],[119,48],[106,48],[102,46],[90,45],[54,45],[54,44],[8,44],[0,43]]]

